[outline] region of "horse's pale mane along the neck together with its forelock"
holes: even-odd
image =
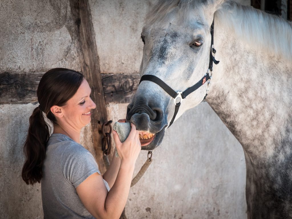
[[[181,19],[190,11],[200,9],[206,0],[159,0],[147,14],[146,25],[162,20],[173,8],[180,8]],[[202,11],[201,11],[202,13]],[[254,49],[292,59],[292,22],[276,15],[268,14],[251,6],[243,6],[227,0],[215,12],[216,18],[222,20],[226,29],[251,45]],[[215,24],[216,25],[216,24]]]

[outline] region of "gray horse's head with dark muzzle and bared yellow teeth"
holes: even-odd
[[[208,71],[210,28],[214,12],[222,2],[159,1],[147,15],[142,29],[144,48],[140,75],[156,76],[175,93],[185,91],[200,81]],[[205,81],[181,100],[175,120],[204,99],[208,87]],[[145,80],[139,84],[128,105],[126,120],[141,131],[140,139],[145,136],[141,139],[143,150],[152,150],[161,143],[165,128],[173,119],[175,101],[153,81]]]

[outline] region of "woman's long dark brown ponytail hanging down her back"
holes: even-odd
[[[36,107],[29,118],[29,128],[23,152],[25,163],[22,168],[22,179],[26,184],[41,181],[42,164],[46,155],[46,143],[50,132],[40,107]]]

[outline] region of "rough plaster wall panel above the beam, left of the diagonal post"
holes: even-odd
[[[80,71],[68,1],[1,0],[0,71]]]

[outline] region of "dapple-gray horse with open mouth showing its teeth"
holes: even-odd
[[[213,19],[220,63],[211,72]],[[175,119],[198,105],[209,86],[206,101],[244,149],[248,218],[292,218],[291,24],[232,1],[159,1],[141,37],[141,75],[178,92],[212,74],[211,84],[203,79],[187,98],[179,93]],[[140,83],[126,118],[141,130],[142,149],[160,144],[175,101],[161,85]]]

